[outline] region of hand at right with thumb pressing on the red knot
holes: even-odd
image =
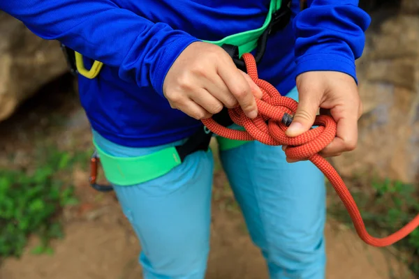
[[[337,122],[335,139],[320,152],[323,157],[339,156],[352,151],[358,142],[358,119],[362,103],[353,77],[334,71],[312,71],[297,77],[299,104],[286,135],[295,137],[311,128],[318,109],[329,111]],[[286,149],[286,146],[283,146]],[[297,160],[286,159],[288,163]],[[306,159],[307,160],[307,159]]]

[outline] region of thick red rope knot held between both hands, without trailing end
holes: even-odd
[[[267,145],[287,145],[288,158],[302,160],[308,159],[318,153],[332,142],[336,133],[336,123],[330,116],[318,116],[313,128],[297,137],[288,137],[286,129],[290,120],[297,111],[298,103],[292,98],[281,96],[281,93],[269,82],[258,78],[256,61],[251,54],[243,54],[249,77],[259,86],[263,93],[262,99],[256,99],[258,116],[249,119],[241,107],[228,110],[234,123],[244,127],[245,131],[237,131],[223,127],[213,119],[204,119],[207,128],[221,137],[232,140],[258,140]],[[288,125],[287,125],[288,124]]]

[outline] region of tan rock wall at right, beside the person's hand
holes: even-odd
[[[372,13],[357,63],[364,114],[358,147],[333,158],[340,174],[370,172],[413,183],[419,178],[419,1]],[[383,20],[384,19],[384,20]]]

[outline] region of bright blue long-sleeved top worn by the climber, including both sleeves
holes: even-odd
[[[287,92],[310,70],[336,70],[356,80],[355,59],[370,18],[358,0],[292,0],[288,26],[270,36],[260,78]],[[172,110],[163,80],[196,40],[220,40],[262,26],[270,0],[0,0],[45,39],[59,40],[105,63],[94,80],[79,77],[91,126],[124,146],[156,146],[191,135],[200,121]],[[91,60],[85,59],[86,66]]]

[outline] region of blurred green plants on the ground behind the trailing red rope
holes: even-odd
[[[357,181],[351,181],[349,184],[356,183]],[[411,184],[390,179],[367,179],[358,181],[358,186],[358,191],[353,189],[351,192],[368,232],[374,236],[392,234],[419,213],[418,189]],[[328,210],[330,215],[352,226],[340,199],[333,199]],[[419,229],[396,243],[395,247],[404,255],[409,255],[407,262],[411,270],[419,275]]]

